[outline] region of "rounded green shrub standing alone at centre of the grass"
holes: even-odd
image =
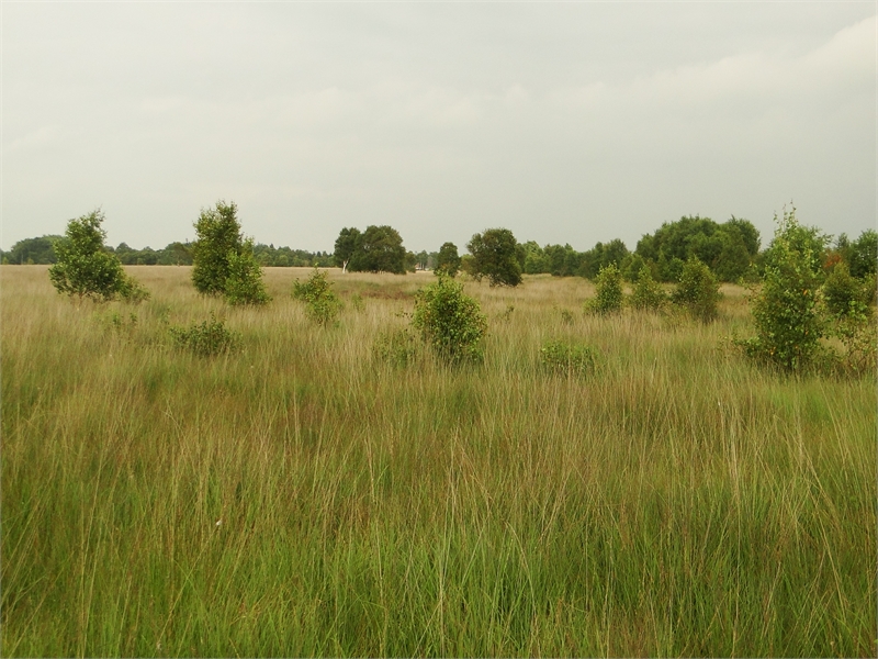
[[[444,273],[415,294],[412,325],[420,337],[450,362],[481,361],[487,319],[463,284]]]

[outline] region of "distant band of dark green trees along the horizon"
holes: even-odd
[[[818,230],[804,231],[809,249],[814,252],[826,273],[844,263],[852,276],[874,275],[878,254],[878,233],[864,231],[856,239],[841,234],[833,241]],[[56,245],[63,236],[45,235],[25,238],[9,252],[0,252],[3,264],[55,264]],[[804,239],[804,238],[803,238]],[[768,246],[770,247],[770,245]],[[521,275],[578,276],[595,280],[599,272],[615,266],[624,280],[634,282],[641,271],[660,282],[676,282],[685,264],[695,258],[724,282],[758,278],[765,267],[767,249],[761,250],[758,230],[748,220],[732,216],[723,223],[709,217],[683,216],[665,222],[655,232],[643,235],[634,250],[621,239],[597,243],[592,249],[577,252],[570,244],[540,246],[534,241],[519,243],[506,228],[474,234],[466,244],[469,254],[444,243],[437,252],[407,250],[398,231],[389,225],[370,225],[361,231],[345,227],[334,250],[306,252],[290,247],[250,243],[252,258],[261,267],[331,267],[344,271],[404,273],[418,269],[443,270],[452,277],[463,270],[476,279],[486,277],[492,284],[516,286]],[[134,249],[125,243],[104,246],[122,265],[192,265],[195,243],[175,242],[162,249]]]

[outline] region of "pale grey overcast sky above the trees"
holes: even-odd
[[[0,245],[876,225],[876,3],[3,2]]]

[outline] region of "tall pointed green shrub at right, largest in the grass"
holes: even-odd
[[[738,342],[745,353],[784,370],[810,366],[820,348],[815,250],[800,241],[795,209],[784,212],[766,260],[762,289],[751,306],[756,336]]]

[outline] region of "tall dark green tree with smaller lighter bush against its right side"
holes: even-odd
[[[229,257],[239,255],[244,237],[235,202],[217,201],[216,208],[201,211],[195,222],[198,239],[192,245],[192,283],[200,293],[225,293],[230,275]]]

